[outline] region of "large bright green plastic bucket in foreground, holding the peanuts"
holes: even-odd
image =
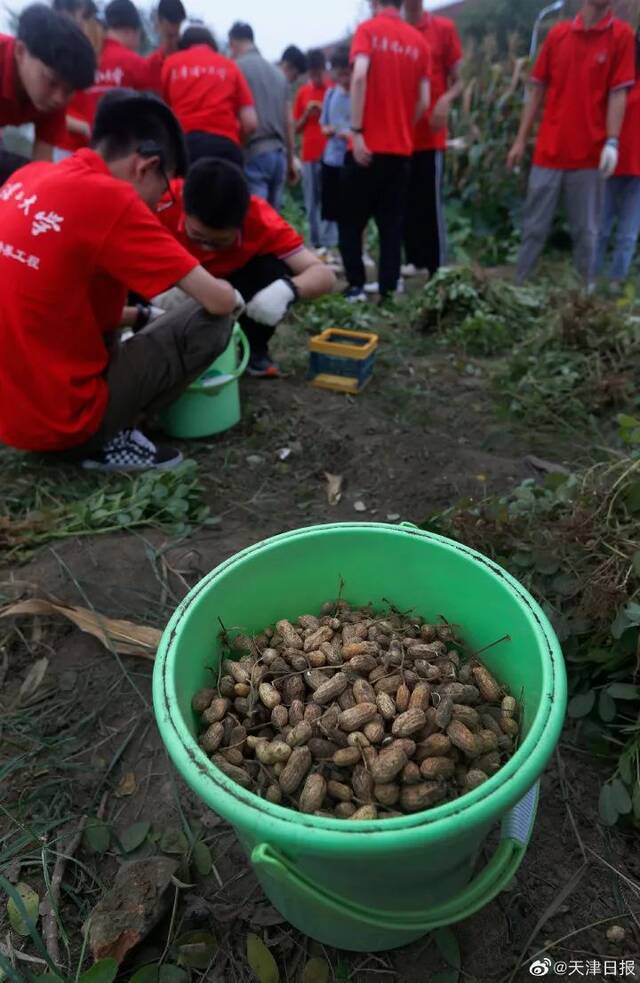
[[[194,693],[211,684],[220,621],[257,631],[317,612],[338,593],[463,626],[487,665],[524,702],[523,739],[504,768],[475,791],[428,812],[376,822],[306,816],[230,781],[196,740]],[[183,778],[227,819],[265,893],[296,928],[338,948],[405,945],[468,917],[512,879],[526,852],[538,779],[559,738],[566,675],[540,607],[479,553],[415,527],[315,526],[258,543],[195,587],[163,635],[153,679],[156,719]],[[496,823],[500,842],[474,875]]]

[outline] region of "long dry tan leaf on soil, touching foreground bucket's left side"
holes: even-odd
[[[147,625],[136,625],[131,621],[106,618],[88,608],[63,604],[60,601],[30,598],[17,601],[0,610],[0,618],[17,618],[26,615],[62,615],[80,629],[93,635],[109,651],[119,655],[138,655],[144,659],[154,659],[160,644],[162,632]]]

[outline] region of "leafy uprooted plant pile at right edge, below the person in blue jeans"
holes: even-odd
[[[550,431],[629,405],[639,369],[640,319],[574,294],[551,298],[546,330],[522,339],[496,383],[511,414]]]

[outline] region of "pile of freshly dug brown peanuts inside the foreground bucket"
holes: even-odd
[[[517,746],[517,701],[462,660],[447,623],[339,600],[224,640],[217,686],[193,698],[200,747],[268,802],[332,819],[416,813],[477,788]]]

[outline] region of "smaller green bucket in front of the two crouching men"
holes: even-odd
[[[242,351],[239,360],[238,345]],[[211,437],[235,427],[241,416],[238,379],[248,361],[249,341],[236,324],[220,358],[161,414],[160,423],[165,433],[180,440],[190,440]]]

